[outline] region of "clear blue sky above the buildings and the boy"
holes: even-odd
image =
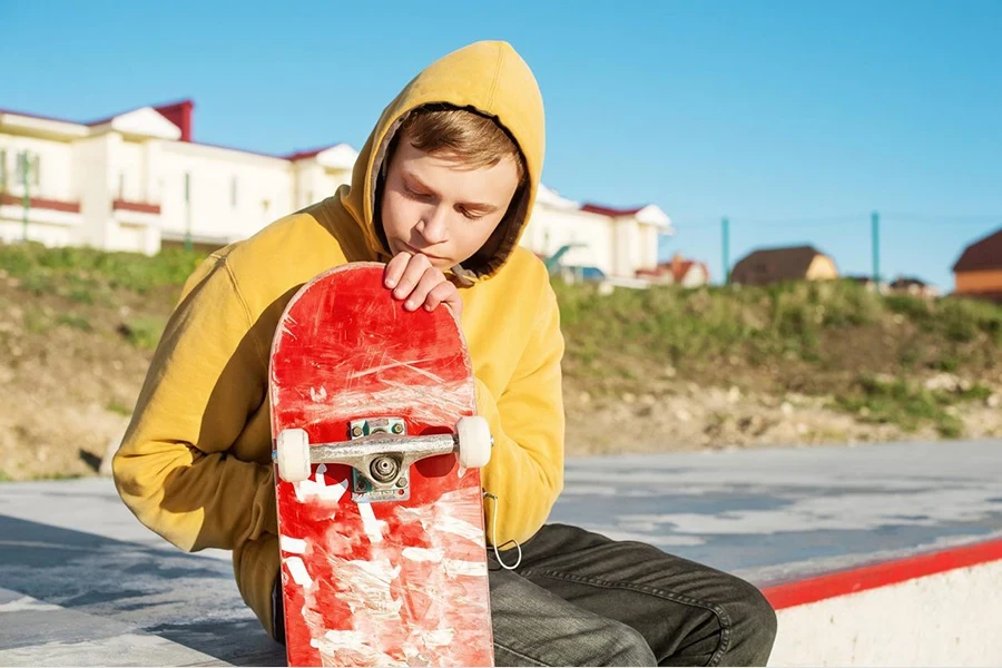
[[[1002,2],[3,2],[0,108],[90,120],[193,98],[195,138],[360,147],[435,58],[505,39],[547,107],[543,180],[655,203],[720,276],[812,243],[942,288],[1002,227]]]

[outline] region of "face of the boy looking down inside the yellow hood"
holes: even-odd
[[[401,137],[386,171],[381,215],[394,256],[422,253],[448,269],[487,243],[518,188],[514,159],[471,169]]]

